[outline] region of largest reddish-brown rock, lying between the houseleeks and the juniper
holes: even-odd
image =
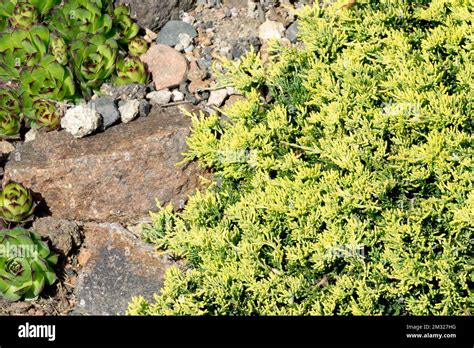
[[[196,164],[176,166],[189,129],[188,118],[170,108],[83,139],[42,134],[10,154],[3,180],[40,194],[55,218],[138,223],[155,199],[180,208],[198,186]]]

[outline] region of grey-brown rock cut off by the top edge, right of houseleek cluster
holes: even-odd
[[[132,18],[143,28],[158,30],[170,19],[178,19],[179,11],[187,11],[196,0],[115,0],[115,5],[128,5]]]

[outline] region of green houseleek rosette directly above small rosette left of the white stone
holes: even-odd
[[[21,74],[20,81],[28,96],[37,99],[64,100],[75,93],[74,79],[71,71],[56,62],[51,56],[45,56],[41,62]],[[25,101],[25,104],[29,104]]]

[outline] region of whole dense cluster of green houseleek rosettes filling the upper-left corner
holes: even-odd
[[[89,99],[105,81],[145,83],[148,49],[125,6],[111,0],[0,3],[0,137],[60,127],[57,101]]]

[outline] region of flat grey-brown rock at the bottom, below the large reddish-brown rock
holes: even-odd
[[[124,314],[133,296],[152,300],[159,293],[165,270],[174,264],[166,256],[119,224],[87,224],[84,233],[74,314]]]

